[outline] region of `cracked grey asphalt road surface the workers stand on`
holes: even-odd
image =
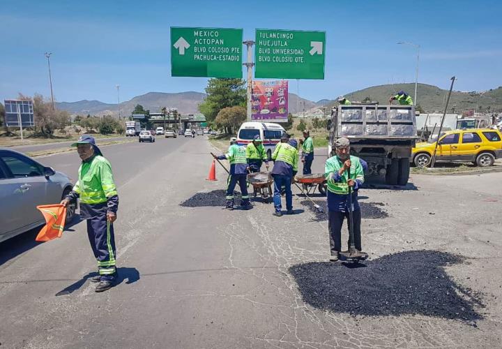
[[[96,271],[96,262],[84,222],[52,242],[34,244],[36,232],[31,232],[0,244],[2,348],[499,346],[500,174],[414,175],[402,190],[361,189],[360,202],[388,213],[363,218],[363,248],[372,262],[397,253],[390,258],[393,265],[372,267],[368,262],[367,271],[374,268],[376,274],[365,273],[369,281],[362,285],[350,280],[347,267],[326,266],[327,223],[301,204],[304,198],[294,198],[294,216],[281,218],[261,202],[254,202],[250,211],[181,207],[195,193],[225,188],[221,168],[218,181],[205,180],[211,150],[202,137],[102,147],[119,188],[115,230],[121,283],[93,292],[87,278]],[[323,168],[323,159],[316,157],[315,170]],[[76,154],[38,160],[76,177]],[[390,275],[393,268],[402,265],[408,273],[421,269],[420,260],[410,265],[402,256],[423,250],[466,258],[431,265],[434,258],[425,253],[424,269],[431,274],[423,277],[433,284],[436,277],[446,278],[464,295],[474,292],[484,306],[472,306],[481,320],[468,323],[430,311],[406,312],[406,301],[393,304],[392,312],[379,312],[386,309],[382,304],[372,312],[358,312],[358,297],[372,295],[374,302],[382,302],[381,281],[406,274]],[[351,314],[330,306],[336,292],[324,290],[328,282],[323,282],[321,270],[330,275],[330,288],[337,287],[333,279],[344,276],[347,292],[337,297],[350,295],[355,304]],[[358,275],[360,269],[353,270]],[[409,285],[408,279],[393,282],[403,292],[411,287],[420,292],[420,285]],[[303,280],[319,289],[311,290]],[[360,303],[371,304],[367,299]]]

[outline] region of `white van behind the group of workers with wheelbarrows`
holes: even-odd
[[[260,135],[268,158],[271,158],[275,145],[280,142],[282,134],[286,133],[280,124],[271,122],[245,122],[237,133],[237,144],[247,146],[255,135]]]

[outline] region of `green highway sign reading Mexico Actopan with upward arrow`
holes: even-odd
[[[171,27],[171,75],[242,78],[243,29]]]

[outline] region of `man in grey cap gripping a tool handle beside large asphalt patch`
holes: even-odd
[[[342,224],[344,217],[349,223],[349,210],[353,212],[354,244],[361,251],[361,215],[357,189],[364,182],[363,166],[357,156],[350,155],[350,142],[339,138],[335,142],[336,155],[326,160],[325,174],[328,181],[328,230],[330,235],[330,260],[336,261],[342,248]],[[351,186],[352,207],[349,207]],[[349,241],[350,245],[350,241]]]

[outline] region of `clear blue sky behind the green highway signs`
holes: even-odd
[[[502,1],[26,1],[0,0],[0,100],[116,103],[149,91],[204,91],[205,78],[171,77],[169,27],[326,31],[324,80],[300,80],[313,101],[390,82],[456,90],[502,85]],[[244,59],[245,60],[245,59]],[[243,75],[245,77],[245,75]],[[290,84],[296,93],[296,80]]]

